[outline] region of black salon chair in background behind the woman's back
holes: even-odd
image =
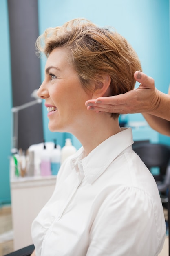
[[[165,144],[137,143],[133,145],[133,150],[151,172],[153,167],[158,168],[159,173],[152,175],[162,202],[167,203],[170,184],[170,147]]]

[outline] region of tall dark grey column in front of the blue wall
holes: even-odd
[[[40,87],[40,59],[35,54],[38,32],[37,0],[8,0],[13,107],[30,102]],[[18,148],[43,141],[42,106],[18,113]]]

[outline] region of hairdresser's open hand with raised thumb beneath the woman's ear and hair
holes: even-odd
[[[109,113],[154,113],[161,100],[161,92],[155,88],[154,79],[135,71],[135,80],[141,83],[139,88],[110,97],[99,97],[86,101],[88,110]]]

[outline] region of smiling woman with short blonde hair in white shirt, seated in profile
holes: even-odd
[[[85,102],[122,94],[141,70],[137,54],[115,31],[86,20],[47,29],[37,40],[47,56],[38,96],[49,129],[82,144],[62,164],[55,191],[32,225],[36,256],[156,256],[166,234],[150,171],[132,150],[119,114],[88,111]]]

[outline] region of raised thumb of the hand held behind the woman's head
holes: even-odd
[[[135,71],[134,78],[137,82],[141,83],[140,88],[145,89],[154,89],[155,88],[155,82],[154,79],[150,76],[147,76],[143,72]]]

